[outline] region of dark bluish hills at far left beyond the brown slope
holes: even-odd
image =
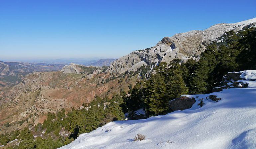
[[[32,72],[59,71],[63,66],[63,64],[0,61],[0,86],[18,84],[25,75]]]

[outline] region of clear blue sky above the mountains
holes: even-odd
[[[255,0],[0,0],[0,60],[118,58],[255,17]]]

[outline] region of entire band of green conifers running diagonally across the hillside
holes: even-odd
[[[199,61],[191,58],[183,63],[174,59],[169,65],[161,62],[147,80],[145,74],[150,67],[141,67],[142,80],[129,87],[129,95],[121,91],[112,99],[96,96],[88,107],[73,108],[68,113],[64,109],[56,114],[48,112],[47,119],[34,128],[0,135],[0,144],[6,145],[18,138],[20,144],[14,146],[17,149],[58,148],[81,133],[91,132],[110,121],[124,120],[127,112],[131,118],[136,118],[134,113],[138,109],[145,110],[147,117],[172,112],[168,106],[170,100],[182,94],[209,93],[221,85],[221,78],[227,72],[256,69],[255,28],[237,33],[229,31],[219,39],[221,42],[206,47]]]

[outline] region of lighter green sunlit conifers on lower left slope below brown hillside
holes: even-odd
[[[121,92],[125,95],[125,92]],[[65,110],[56,114],[48,112],[47,119],[34,128],[25,128],[0,136],[0,144],[18,138],[20,144],[16,149],[55,149],[71,143],[81,133],[91,132],[110,121],[124,120],[124,113],[119,107],[121,96],[116,94],[112,99],[96,96],[89,107],[72,109],[66,114]],[[36,136],[36,137],[34,137]]]

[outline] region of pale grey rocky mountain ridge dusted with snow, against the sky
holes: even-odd
[[[230,30],[241,30],[244,27],[256,25],[256,18],[238,22],[221,23],[209,27],[206,30],[192,30],[185,33],[175,34],[172,37],[164,37],[155,46],[144,50],[134,51],[125,55],[109,66],[111,73],[125,73],[137,71],[143,64],[145,66],[156,65],[159,62],[167,62],[174,58],[186,61],[189,57],[195,57],[205,51],[207,44],[218,41],[218,37]]]

